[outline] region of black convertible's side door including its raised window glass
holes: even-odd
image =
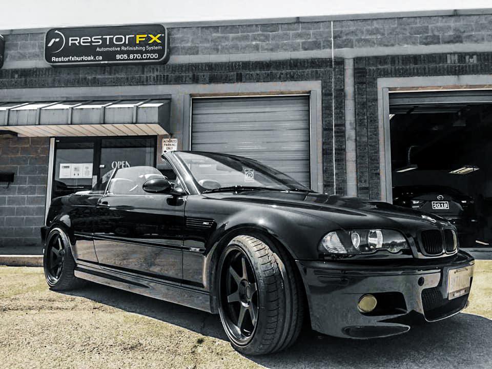
[[[94,247],[103,268],[161,279],[182,279],[183,222],[186,196],[149,194],[153,167],[115,171],[97,202]]]

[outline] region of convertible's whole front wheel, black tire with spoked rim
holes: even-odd
[[[222,326],[235,350],[270,354],[296,341],[304,319],[304,294],[295,268],[283,249],[259,235],[236,236],[223,249],[217,300]]]

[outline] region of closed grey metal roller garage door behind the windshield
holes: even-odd
[[[249,157],[310,185],[309,96],[194,98],[191,147]]]

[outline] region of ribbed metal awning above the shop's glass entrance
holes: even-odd
[[[0,131],[19,136],[133,136],[169,133],[170,99],[0,103]]]

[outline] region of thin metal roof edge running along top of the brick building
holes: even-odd
[[[419,10],[406,12],[385,12],[385,13],[361,13],[361,14],[334,14],[320,16],[301,16],[301,17],[283,17],[283,18],[252,18],[252,19],[224,19],[224,20],[201,20],[193,22],[150,22],[162,24],[168,28],[186,28],[186,27],[207,27],[207,26],[238,26],[238,25],[256,25],[272,23],[309,23],[309,22],[330,22],[335,20],[361,20],[361,19],[382,19],[382,18],[406,18],[421,16],[453,16],[453,15],[483,15],[492,14],[492,8],[476,9],[453,9],[453,10]],[[85,25],[74,27],[101,27],[105,25]],[[117,26],[117,25],[111,25]],[[41,28],[18,28],[18,29],[0,29],[0,34],[23,34],[23,33],[45,33],[53,27]],[[64,26],[70,27],[70,26]]]

